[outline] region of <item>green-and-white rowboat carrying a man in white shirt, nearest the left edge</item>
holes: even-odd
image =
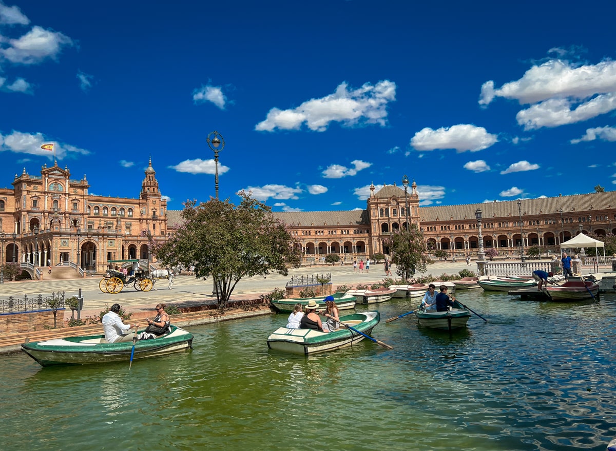
[[[138,340],[133,359],[162,356],[192,349],[193,335],[171,325],[171,332],[153,340]],[[22,351],[44,367],[52,365],[128,362],[132,341],[107,343],[105,335],[54,338],[23,343]]]

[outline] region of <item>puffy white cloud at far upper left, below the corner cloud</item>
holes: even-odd
[[[0,55],[17,64],[38,64],[46,58],[55,58],[65,46],[72,46],[68,36],[33,26],[19,39],[9,39],[9,47],[0,49]]]

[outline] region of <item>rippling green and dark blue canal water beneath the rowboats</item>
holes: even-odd
[[[460,291],[468,330],[419,329],[417,301],[376,305],[372,335],[310,358],[267,349],[275,315],[193,327],[194,349],[42,368],[0,357],[9,450],[601,450],[616,435],[616,296],[521,301]],[[359,307],[359,310],[363,307]]]

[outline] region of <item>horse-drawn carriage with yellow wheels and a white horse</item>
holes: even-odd
[[[170,269],[155,269],[148,271],[140,268],[139,260],[107,260],[108,263],[131,263],[131,275],[124,274],[122,271],[107,269],[107,275],[100,279],[99,289],[103,293],[120,293],[126,285],[133,285],[137,291],[150,291],[158,279],[169,279],[169,289],[173,285],[174,271]],[[118,268],[118,266],[116,266]],[[134,268],[134,269],[133,269]],[[128,269],[128,268],[127,268]],[[128,273],[128,270],[127,270]],[[155,289],[155,288],[154,288]]]

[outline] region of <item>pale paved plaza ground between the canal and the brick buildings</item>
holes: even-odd
[[[416,274],[432,274],[432,276],[440,276],[441,274],[457,274],[462,269],[471,269],[477,271],[476,264],[471,262],[470,266],[466,265],[466,261],[442,261],[433,263],[428,266],[426,273]],[[352,266],[309,266],[297,269],[290,269],[288,276],[280,274],[270,274],[267,277],[255,276],[242,279],[235,287],[232,293],[232,300],[240,300],[246,298],[256,298],[259,294],[270,293],[275,288],[284,289],[292,276],[312,276],[331,273],[332,283],[336,285],[357,285],[367,284],[368,282],[378,282],[385,277],[383,263],[370,266],[370,272],[367,273],[364,269],[363,273],[353,271]],[[392,269],[394,278],[395,265]],[[52,292],[65,292],[65,297],[78,295],[79,289],[84,298],[83,311],[81,317],[93,316],[99,313],[105,305],[119,303],[127,311],[144,311],[152,310],[156,303],[163,302],[180,303],[180,305],[205,304],[215,302],[216,297],[212,295],[213,284],[211,279],[203,281],[196,279],[194,276],[181,274],[174,280],[173,288],[169,289],[169,284],[166,280],[156,282],[156,290],[150,292],[137,291],[132,285],[127,285],[120,293],[110,294],[103,293],[99,289],[99,282],[102,276],[88,276],[87,279],[71,279],[65,281],[19,281],[5,282],[0,285],[0,298],[6,299],[9,296],[23,297],[27,294],[28,297],[34,297],[39,293],[44,296],[50,295]],[[65,317],[70,316],[70,310],[65,311]]]

